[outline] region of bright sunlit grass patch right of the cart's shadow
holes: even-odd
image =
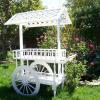
[[[60,92],[53,100],[100,100],[100,87],[80,86],[72,94]]]

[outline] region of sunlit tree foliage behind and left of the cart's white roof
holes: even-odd
[[[4,26],[15,13],[43,9],[40,0],[0,0],[0,47],[3,50],[19,45],[18,27]],[[31,37],[31,36],[30,36]]]

